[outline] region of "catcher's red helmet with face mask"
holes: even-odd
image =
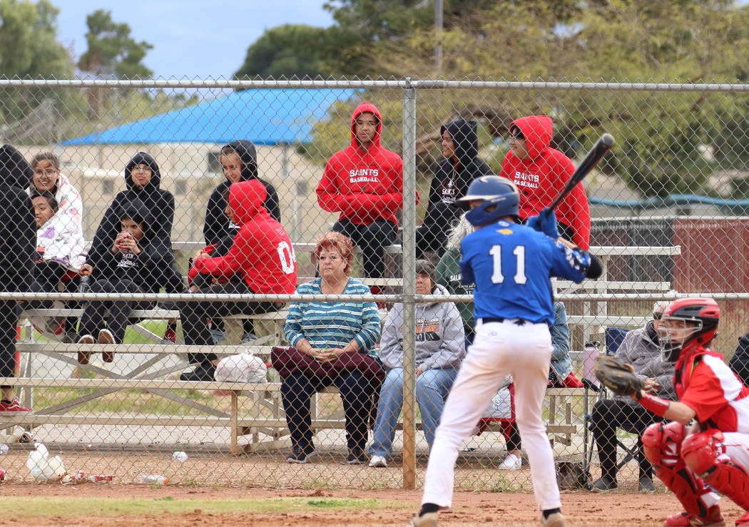
[[[671,302],[663,311],[658,338],[664,359],[675,361],[682,350],[704,346],[715,338],[721,308],[712,298],[682,298]]]

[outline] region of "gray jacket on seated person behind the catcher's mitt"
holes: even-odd
[[[634,366],[634,373],[640,380],[655,378],[661,389],[658,396],[668,400],[676,400],[676,390],[673,388],[673,362],[665,362],[661,352],[658,335],[655,334],[653,321],[650,320],[644,328],[632,329],[624,337],[622,345],[616,350],[616,356],[624,362]],[[626,400],[631,405],[637,402],[631,397],[616,397]]]

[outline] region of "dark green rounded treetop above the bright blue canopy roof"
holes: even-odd
[[[266,29],[249,46],[244,64],[234,73],[234,79],[330,76],[336,73],[330,64],[330,55],[324,28],[303,24],[279,25]]]

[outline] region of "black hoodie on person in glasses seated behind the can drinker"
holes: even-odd
[[[151,167],[151,180],[142,189],[133,183],[131,177],[133,167],[141,163]],[[88,258],[86,258],[86,263],[94,267],[94,272],[100,266],[100,262],[106,256],[106,253],[111,253],[109,249],[111,249],[115,237],[120,232],[120,220],[123,217],[125,205],[134,201],[140,201],[145,210],[148,210],[151,245],[153,245],[154,251],[167,259],[169,259],[169,255],[173,254],[172,222],[175,218],[175,197],[172,192],[160,189],[160,183],[159,165],[148,153],[136,153],[133,159],[127,162],[125,166],[126,190],[115,195],[114,201],[104,213],[96,234],[94,234],[94,241],[91,243]],[[161,271],[171,273],[172,269],[171,267],[169,269],[164,268]],[[159,281],[161,281],[160,278]]]

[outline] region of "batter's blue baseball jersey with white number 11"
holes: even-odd
[[[476,283],[473,315],[554,323],[552,276],[579,284],[590,255],[525,225],[500,220],[461,242],[464,284]]]

